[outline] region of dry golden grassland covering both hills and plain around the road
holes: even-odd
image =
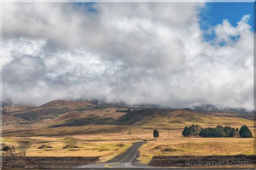
[[[253,120],[207,116],[186,109],[163,110],[163,113],[162,110],[117,113],[116,109],[119,108],[99,108],[85,103],[85,110],[76,111],[73,103],[65,102],[65,108],[72,111],[58,116],[49,116],[47,112],[47,117],[51,119],[38,119],[36,116],[29,121],[23,119],[35,111],[44,117],[45,108],[63,107],[59,102],[53,104],[30,108],[29,111],[22,110],[26,107],[7,108],[6,111],[18,112],[3,115],[3,143],[14,145],[15,152],[25,152],[26,156],[100,156],[101,162],[112,159],[141,140],[146,140],[139,149],[138,159],[142,163],[148,163],[152,156],[253,155],[255,150],[254,135],[254,138],[183,137],[183,128],[193,123],[202,127],[222,125],[240,128],[247,125],[255,134]],[[78,104],[79,107],[84,105],[83,102]],[[160,134],[157,139],[153,139],[154,128]],[[52,148],[38,149],[42,144]],[[67,144],[78,148],[63,149]],[[166,147],[174,151],[163,152]]]

